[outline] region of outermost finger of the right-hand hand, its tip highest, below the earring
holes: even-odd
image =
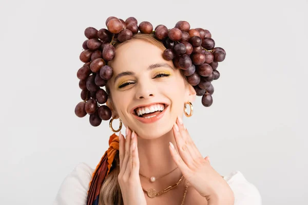
[[[185,128],[183,120],[180,116],[177,119],[177,125],[179,127],[179,132],[181,133],[184,144],[186,144],[191,157],[193,159],[203,159],[202,154],[199,152],[194,140],[192,140],[191,136],[189,135],[188,130]]]

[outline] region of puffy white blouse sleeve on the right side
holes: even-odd
[[[259,190],[248,182],[243,174],[235,171],[224,179],[232,189],[235,197],[235,205],[261,205],[262,199]]]

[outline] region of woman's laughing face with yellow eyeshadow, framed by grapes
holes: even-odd
[[[162,53],[157,46],[134,39],[117,48],[109,63],[113,69],[108,80],[112,116],[120,117],[143,138],[169,132],[177,116],[183,115],[184,104],[196,96],[180,70]]]

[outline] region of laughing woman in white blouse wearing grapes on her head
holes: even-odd
[[[110,128],[118,132],[123,123],[125,137],[121,131],[119,137],[110,136],[110,147],[95,170],[84,163],[76,167],[64,180],[54,204],[261,204],[258,190],[240,172],[222,177],[210,166],[183,124],[183,113],[188,117],[193,113],[196,95],[203,95],[206,107],[213,102],[210,82],[218,79],[215,63],[224,59],[225,52],[218,49],[215,54],[211,40],[204,43],[211,39],[209,32],[198,29],[196,34],[181,21],[177,29],[158,26],[151,34],[151,25],[143,22],[137,34],[133,17],[125,22],[109,17],[106,25],[108,31],[92,32],[91,28],[85,32],[89,40],[81,60],[92,77],[85,66],[78,73],[85,101],[75,113],[79,117],[90,114],[92,126],[111,117]],[[198,42],[199,37],[203,42]],[[102,57],[93,54],[98,45],[102,52],[97,56]],[[202,66],[207,67],[202,70]],[[214,77],[209,79],[210,75]],[[108,96],[98,88],[104,84]],[[108,107],[97,106],[107,98]],[[120,120],[119,130],[112,127],[113,119]]]

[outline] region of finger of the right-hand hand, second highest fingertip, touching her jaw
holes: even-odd
[[[188,147],[184,143],[181,133],[179,132],[179,127],[176,123],[174,124],[174,127],[172,128],[172,130],[174,132],[175,140],[176,140],[178,151],[179,151],[179,154],[181,155],[181,158],[187,165],[191,164],[194,161],[194,159],[191,157],[188,151]]]

